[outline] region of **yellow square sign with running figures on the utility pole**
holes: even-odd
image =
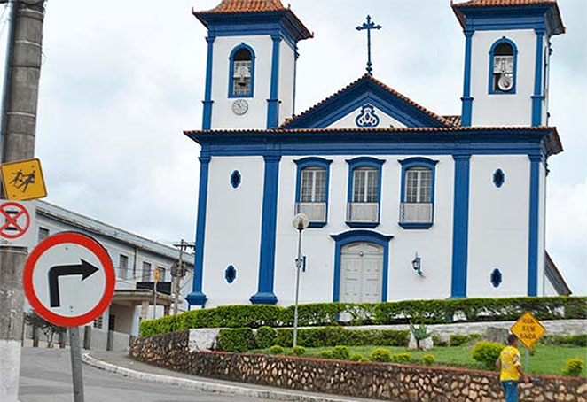
[[[0,172],[6,198],[26,200],[47,197],[39,159],[4,163],[0,165]]]

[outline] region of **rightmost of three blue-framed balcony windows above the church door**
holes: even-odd
[[[402,194],[399,225],[430,228],[434,222],[434,175],[437,160],[407,158],[402,165]]]

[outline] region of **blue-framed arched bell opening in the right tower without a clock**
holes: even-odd
[[[503,37],[489,50],[489,93],[515,94],[518,50],[513,41]]]

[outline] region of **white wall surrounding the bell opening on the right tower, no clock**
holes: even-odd
[[[515,94],[489,94],[489,50],[504,36],[518,49]],[[471,53],[472,126],[530,126],[535,65],[533,29],[475,31]]]

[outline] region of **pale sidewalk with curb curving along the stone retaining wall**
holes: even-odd
[[[351,398],[318,394],[301,390],[286,390],[263,385],[232,383],[212,378],[177,373],[130,359],[126,352],[87,352],[82,356],[84,363],[106,372],[123,375],[147,383],[165,383],[192,390],[217,392],[243,397],[267,398],[272,400],[300,402],[376,402],[377,399]]]

